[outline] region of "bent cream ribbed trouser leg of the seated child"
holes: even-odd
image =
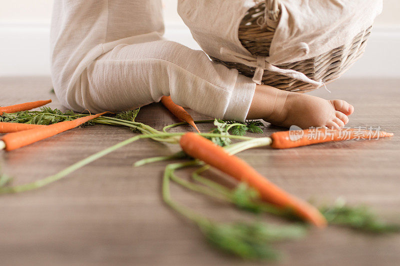
[[[89,98],[82,107],[96,111],[137,108],[171,95],[183,107],[237,121],[246,118],[255,90],[236,69],[168,40],[117,45],[87,67],[81,84]]]

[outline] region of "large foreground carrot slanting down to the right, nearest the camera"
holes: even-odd
[[[317,227],[326,226],[325,218],[316,208],[278,188],[246,162],[228,154],[211,141],[190,132],[180,138],[180,146],[191,157],[200,159],[240,182],[247,183],[258,191],[262,200],[281,208],[289,208]]]

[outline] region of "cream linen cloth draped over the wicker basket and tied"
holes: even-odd
[[[320,56],[342,45],[350,47],[352,39],[382,11],[382,0],[279,0],[279,21],[274,22],[269,56],[255,56],[242,46],[238,29],[248,9],[264,1],[178,0],[178,13],[204,52],[254,67],[255,83],[261,84],[264,70],[269,70],[318,88],[323,86],[321,80],[276,65]],[[268,16],[263,20],[260,26]],[[354,55],[358,48],[351,47]]]

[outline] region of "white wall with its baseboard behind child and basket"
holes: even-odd
[[[199,49],[176,12],[177,0],[163,0],[166,37]],[[52,0],[0,0],[0,76],[48,75],[48,31]],[[345,77],[400,77],[399,0],[384,0],[365,55]]]

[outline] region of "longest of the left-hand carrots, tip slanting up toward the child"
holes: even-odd
[[[89,115],[81,117],[72,121],[63,121],[55,123],[52,125],[45,126],[43,128],[34,128],[25,131],[19,131],[14,133],[9,133],[1,138],[3,144],[5,145],[6,151],[12,151],[20,147],[29,145],[36,141],[54,136],[58,133],[64,132],[68,129],[75,128],[91,119],[97,118],[107,112],[103,112],[96,115]]]

